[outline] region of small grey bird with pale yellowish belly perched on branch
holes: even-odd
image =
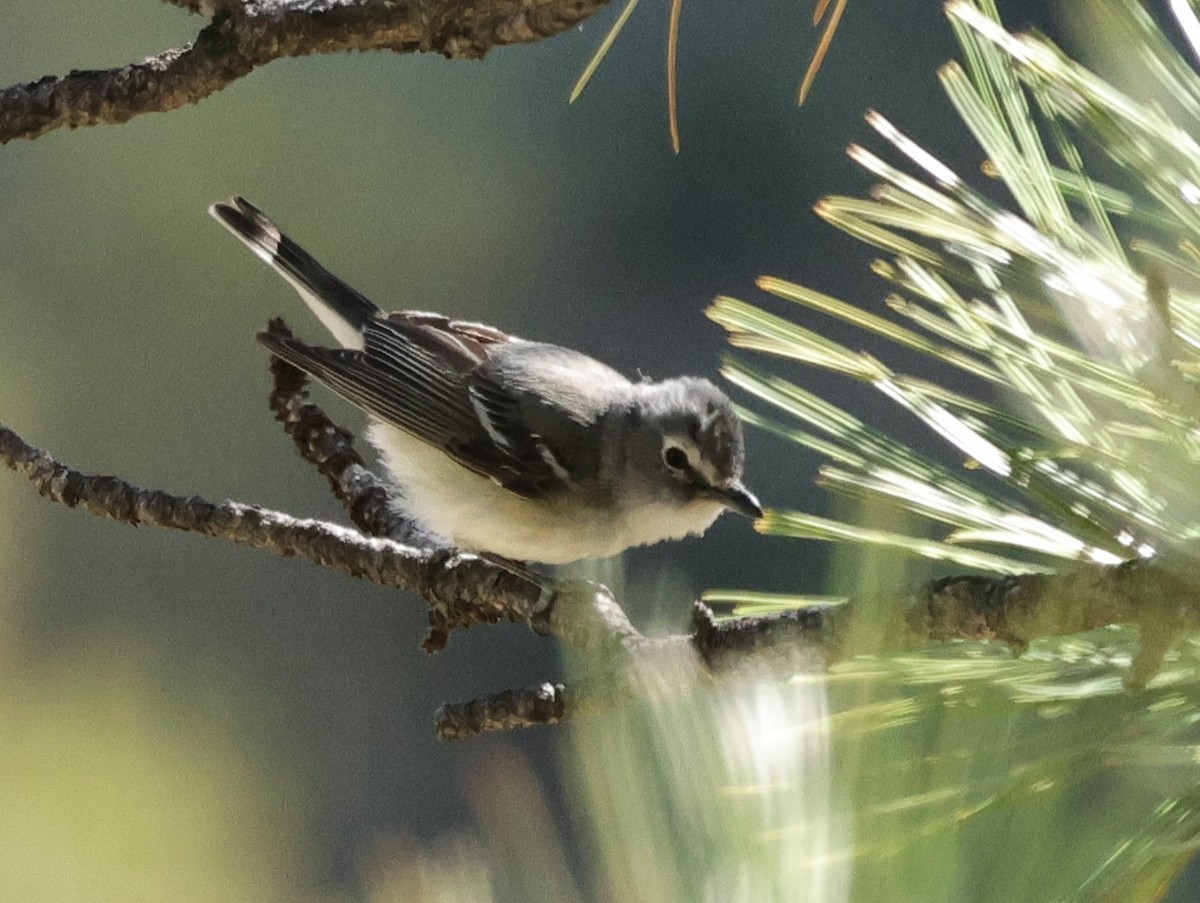
[[[469,552],[565,564],[761,518],[742,421],[694,376],[632,381],[577,351],[442,313],[384,312],[241,197],[209,213],[340,347],[259,333],[366,412],[400,514]]]

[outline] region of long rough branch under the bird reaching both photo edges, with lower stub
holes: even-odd
[[[1128,676],[1130,684],[1141,686],[1157,672],[1174,638],[1200,626],[1194,581],[1180,576],[1184,568],[1130,562],[1063,576],[947,578],[906,597],[755,618],[716,621],[697,604],[690,634],[647,638],[594,584],[551,585],[452,549],[415,549],[238,502],[172,496],[115,477],[86,476],[2,426],[0,459],[43,496],[100,516],[300,555],[382,586],[414,591],[442,612],[446,632],[499,620],[529,623],[583,650],[602,676],[602,695],[556,689],[547,698],[540,689],[533,695],[518,690],[446,706],[439,730],[448,737],[557,723],[595,711],[601,702],[671,695],[746,669],[820,672],[853,654],[913,650],[950,639],[997,640],[1019,653],[1040,636],[1112,623],[1142,628],[1142,648]]]

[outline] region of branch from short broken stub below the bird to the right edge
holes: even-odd
[[[625,686],[608,686],[607,693],[596,695],[542,684],[446,705],[438,710],[437,730],[443,740],[463,740],[558,724],[623,699],[686,692],[709,677],[823,674],[853,656],[907,652],[949,640],[1004,642],[1020,654],[1039,638],[1115,623],[1141,628],[1126,674],[1126,684],[1141,689],[1175,639],[1200,628],[1195,582],[1172,568],[1127,562],[1061,576],[952,576],[904,597],[722,621],[696,603],[690,636],[642,638],[629,647],[637,670]],[[703,668],[694,674],[680,670],[686,665],[676,641],[686,641]],[[673,663],[673,670],[664,663]]]

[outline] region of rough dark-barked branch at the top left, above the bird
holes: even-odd
[[[109,70],[76,70],[0,91],[0,144],[70,126],[126,122],[197,103],[271,60],[392,50],[480,59],[565,31],[607,0],[247,0],[181,5],[216,13],[194,43]]]

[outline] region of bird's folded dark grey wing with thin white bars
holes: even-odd
[[[362,351],[268,333],[259,341],[366,412],[517,495],[565,489],[574,472],[568,461],[587,450],[584,423],[533,384],[535,372],[526,367],[523,382],[509,383],[502,378],[508,371],[493,366],[493,354],[524,358],[511,349],[533,343],[490,327],[404,312],[368,323]],[[506,353],[497,354],[502,347]],[[602,366],[575,352],[553,352]],[[544,432],[557,437],[556,447]]]

